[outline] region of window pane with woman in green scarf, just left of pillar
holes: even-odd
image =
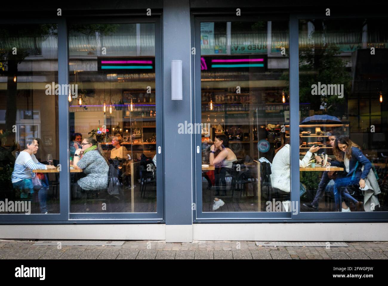
[[[69,83],[70,211],[156,212],[155,24],[69,26]]]

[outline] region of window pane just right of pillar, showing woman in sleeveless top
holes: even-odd
[[[201,23],[203,212],[290,211],[288,37],[288,21]]]

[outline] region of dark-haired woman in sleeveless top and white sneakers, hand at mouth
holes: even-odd
[[[216,151],[220,151],[217,156],[215,156]],[[220,195],[220,187],[224,188],[224,193],[226,195],[226,181],[225,175],[227,170],[232,169],[233,162],[237,160],[236,154],[229,148],[228,137],[224,134],[216,135],[214,139],[214,144],[210,147],[209,162],[210,165],[214,165],[216,168],[214,170],[215,174],[215,185],[216,185],[216,196]],[[213,211],[222,207],[225,204],[220,198],[215,198],[213,201]]]

